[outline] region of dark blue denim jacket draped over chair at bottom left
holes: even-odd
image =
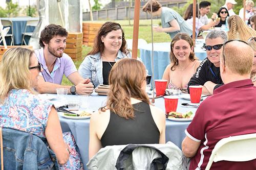
[[[32,133],[3,128],[4,169],[59,169],[54,152],[43,140],[46,142]]]

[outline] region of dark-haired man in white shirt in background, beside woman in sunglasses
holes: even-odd
[[[199,16],[199,20],[204,24],[207,25],[209,20],[207,15],[210,12],[210,3],[208,1],[202,1],[199,4],[199,12],[200,12],[200,16]],[[217,14],[216,13],[212,13],[211,18],[216,18]]]

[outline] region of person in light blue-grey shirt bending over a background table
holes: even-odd
[[[173,9],[162,7],[162,5],[156,1],[148,1],[142,8],[143,12],[148,12],[151,14],[151,5],[152,5],[152,15],[160,16],[162,21],[162,28],[156,27],[154,31],[156,32],[165,32],[170,35],[170,38],[178,33],[187,33],[192,35],[192,26],[184,22],[184,19],[178,12]]]

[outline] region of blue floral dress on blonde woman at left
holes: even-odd
[[[17,129],[46,138],[45,129],[52,103],[42,100],[26,89],[12,89],[4,104],[0,104],[0,127]],[[71,148],[69,161],[60,169],[83,169],[80,154],[70,132],[63,133],[63,140]]]

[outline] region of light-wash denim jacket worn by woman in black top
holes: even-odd
[[[131,58],[131,53],[125,55],[119,50],[115,62],[126,57]],[[97,53],[84,58],[83,62],[79,66],[78,72],[84,79],[89,78],[94,87],[97,87],[99,84],[103,84],[102,68],[102,59],[100,53]]]

